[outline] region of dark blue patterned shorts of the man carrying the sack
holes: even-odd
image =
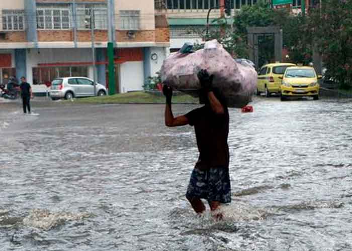
[[[187,198],[202,198],[220,203],[231,202],[231,184],[228,168],[211,168],[207,171],[193,169]]]

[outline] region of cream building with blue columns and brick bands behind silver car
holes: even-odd
[[[166,18],[155,16],[153,0],[11,0],[0,1],[0,12],[0,81],[26,76],[38,93],[55,77],[93,78],[91,23],[101,84],[107,43],[116,44],[118,92],[141,90],[169,47]]]

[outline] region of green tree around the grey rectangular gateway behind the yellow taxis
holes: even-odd
[[[312,61],[312,34],[308,31],[308,19],[302,15],[290,15],[288,10],[273,10],[267,1],[258,1],[253,6],[243,6],[234,17],[234,30],[224,19],[215,21],[217,28],[212,29],[206,38],[217,39],[226,50],[237,57],[248,57],[247,27],[279,26],[283,30],[283,45],[289,51],[290,61],[307,65]],[[221,34],[221,29],[225,34]],[[260,39],[262,58],[272,59],[273,39]],[[260,41],[259,41],[260,42]],[[268,43],[268,44],[265,44]]]

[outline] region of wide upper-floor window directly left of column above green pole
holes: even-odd
[[[108,29],[108,9],[101,4],[77,5],[78,29],[91,29],[91,19],[94,19],[94,29]]]

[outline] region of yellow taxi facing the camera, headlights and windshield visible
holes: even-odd
[[[313,67],[295,66],[287,68],[282,77],[281,100],[284,101],[288,97],[313,97],[314,100],[319,99],[319,83],[317,75]]]

